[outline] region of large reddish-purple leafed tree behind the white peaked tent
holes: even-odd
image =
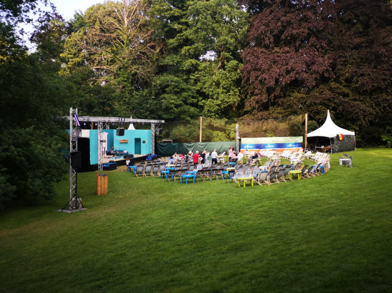
[[[241,1],[252,14],[244,50],[248,117],[309,113],[374,134],[391,117],[388,1]],[[372,131],[369,131],[372,127]]]

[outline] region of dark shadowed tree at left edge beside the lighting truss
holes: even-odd
[[[17,5],[15,5],[17,3]],[[28,54],[16,33],[33,1],[1,2],[0,22],[0,207],[12,198],[36,199],[54,194],[53,183],[67,168],[62,150],[67,145],[63,115],[73,86],[41,57]],[[9,5],[9,6],[8,6]],[[49,53],[49,51],[46,51]]]

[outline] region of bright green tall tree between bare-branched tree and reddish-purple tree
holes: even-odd
[[[235,1],[160,0],[150,15],[155,37],[166,44],[152,89],[161,115],[237,116],[246,13]]]

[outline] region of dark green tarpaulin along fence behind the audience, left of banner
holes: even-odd
[[[235,141],[220,141],[220,142],[195,142],[195,143],[158,143],[157,144],[157,155],[163,156],[171,156],[175,153],[177,154],[187,154],[189,151],[194,153],[195,151],[199,151],[201,154],[204,150],[212,153],[214,149],[217,149],[217,153],[221,154],[226,152],[229,147],[234,146],[235,150]]]

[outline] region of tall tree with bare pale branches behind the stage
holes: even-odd
[[[153,55],[159,48],[146,25],[147,8],[146,1],[107,1],[77,14],[71,23],[62,54],[64,73],[81,86],[90,85],[83,88],[90,91],[89,102],[81,101],[88,114],[101,104],[96,108],[101,115],[132,114],[138,108],[143,96],[137,92],[152,79]],[[99,91],[103,94],[96,96]]]

